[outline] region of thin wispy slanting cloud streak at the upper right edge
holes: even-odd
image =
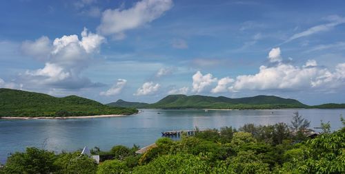
[[[318,32],[326,32],[328,30],[333,29],[337,25],[345,23],[345,18],[339,17],[339,16],[328,17],[328,20],[331,21],[331,22],[330,23],[321,24],[321,25],[316,25],[316,26],[314,26],[312,28],[308,28],[307,30],[305,30],[303,32],[299,32],[297,34],[293,34],[293,36],[291,36],[284,43],[293,41],[295,39],[299,39],[299,38],[304,37],[304,36],[309,36],[309,35],[312,35],[312,34],[316,34]]]

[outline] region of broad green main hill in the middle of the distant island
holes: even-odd
[[[170,95],[146,108],[159,109],[280,109],[308,107],[298,100],[277,96],[226,98],[224,96]]]

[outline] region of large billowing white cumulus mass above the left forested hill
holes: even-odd
[[[48,52],[45,67],[28,70],[22,74],[22,80],[34,85],[52,85],[61,88],[81,88],[96,85],[88,78],[80,76],[81,71],[88,67],[92,54],[98,52],[99,46],[105,41],[103,36],[88,32],[84,28],[81,40],[73,34],[55,39],[52,43],[48,38],[37,41],[26,41],[22,47],[45,47]],[[44,44],[43,44],[44,43]],[[39,46],[38,46],[39,45]],[[29,55],[38,54],[36,51],[26,52]]]

